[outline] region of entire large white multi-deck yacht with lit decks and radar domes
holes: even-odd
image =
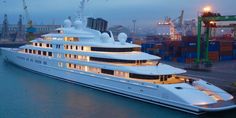
[[[5,60],[20,67],[106,92],[181,111],[200,114],[235,108],[233,96],[201,79],[181,76],[185,70],[160,63],[160,57],[126,43],[120,33],[73,25],[43,35],[17,49],[2,48]]]

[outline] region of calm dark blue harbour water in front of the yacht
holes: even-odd
[[[35,74],[0,52],[0,118],[197,118],[199,116]],[[236,118],[236,110],[203,118]]]

